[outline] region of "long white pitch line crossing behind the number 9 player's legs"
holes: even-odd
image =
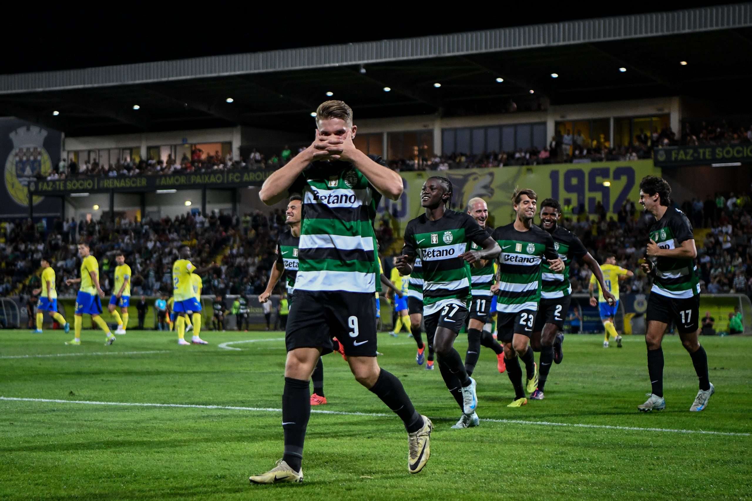
[[[18,398],[18,397],[0,397],[0,400],[13,402],[43,402],[43,403],[80,403],[91,406],[125,406],[125,407],[177,407],[183,409],[226,409],[232,411],[251,411],[251,412],[282,412],[282,409],[271,407],[237,407],[237,406],[202,406],[190,403],[130,403],[130,402],[95,402],[91,400],[57,400],[47,398]],[[368,416],[371,418],[386,418],[393,414],[381,414],[378,412],[339,412],[323,411],[311,409],[315,414],[332,414],[332,415],[355,415]],[[504,424],[532,424],[537,426],[554,426],[554,427],[573,427],[573,428],[599,428],[602,430],[624,430],[624,431],[657,431],[663,433],[697,433],[702,435],[723,435],[723,436],[750,436],[752,433],[738,433],[730,431],[705,431],[705,430],[675,430],[672,428],[641,428],[631,426],[610,426],[608,424],[581,424],[581,423],[552,423],[549,421],[524,421],[522,419],[481,419],[490,423]]]

